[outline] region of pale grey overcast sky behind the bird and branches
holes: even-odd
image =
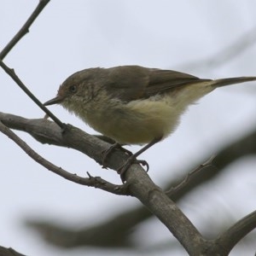
[[[37,4],[38,1],[1,1],[1,48],[20,29]],[[229,55],[234,42],[242,38],[251,40],[250,32],[256,31],[255,10],[254,0],[55,0],[47,5],[5,62],[15,68],[20,79],[42,102],[55,96],[67,76],[88,67],[136,64],[175,69],[207,79],[255,76],[256,44],[250,44],[228,61],[214,62],[218,61],[219,53]],[[212,65],[206,65],[206,60],[211,60]],[[26,118],[44,116],[2,69],[0,84],[1,112]],[[216,90],[200,104],[189,108],[172,137],[142,156],[149,162],[149,175],[154,182],[163,187],[166,180],[185,170],[191,162],[196,163],[201,155],[207,159],[219,145],[253,130],[256,126],[255,96],[255,83],[240,84]],[[54,106],[50,109],[63,122],[96,133],[63,108]],[[82,176],[90,172],[120,183],[115,172],[102,170],[83,154],[41,145],[22,132],[17,134],[56,166]],[[1,133],[0,145],[0,245],[4,247],[37,256],[84,255],[84,249],[63,252],[47,246],[35,233],[26,230],[22,221],[46,216],[68,225],[86,225],[139,204],[134,198],[110,195],[57,177],[31,160]],[[130,147],[132,151],[138,148]],[[204,190],[206,197],[202,197],[199,190],[184,199],[180,207],[197,226],[211,221],[216,205],[221,206],[220,215],[235,220],[252,212],[256,207],[255,174],[252,178],[255,166],[255,159],[230,166],[221,182],[218,180]],[[227,183],[231,184],[228,188]],[[105,212],[104,216],[101,212]],[[150,229],[154,229],[154,235],[146,239],[145,234],[150,233]],[[146,245],[148,241],[157,243],[168,241],[170,237],[158,221],[152,220],[143,231],[138,231],[137,237]],[[108,255],[93,248],[86,250],[90,255]],[[248,253],[253,255],[253,252],[255,248]],[[231,255],[240,253],[236,251]],[[167,254],[163,252],[161,255]],[[122,255],[134,254],[124,252]]]

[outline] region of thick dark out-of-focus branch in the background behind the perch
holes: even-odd
[[[218,175],[224,172],[224,167],[230,165],[233,161],[239,160],[239,158],[250,155],[256,154],[256,130],[252,131],[247,136],[237,138],[236,142],[230,143],[225,148],[219,150],[218,154],[215,158],[207,160],[201,168],[199,165],[196,172],[192,171],[192,175],[188,177],[184,177],[181,181],[180,179],[176,179],[169,183],[166,187],[167,188],[174,188],[170,189],[168,192],[168,196],[171,197],[173,201],[179,201],[183,198],[183,196],[188,195],[191,191],[199,187],[202,183],[210,182],[214,177],[218,177]],[[203,160],[198,160],[198,162],[203,162]],[[209,164],[209,165],[208,165]],[[205,166],[206,165],[206,166]],[[196,170],[195,169],[195,170]],[[189,173],[189,170],[182,171],[183,173]],[[181,185],[183,184],[183,185]],[[125,236],[125,234],[131,234],[131,230],[137,224],[142,223],[143,221],[147,220],[148,218],[152,217],[152,213],[148,211],[145,207],[135,207],[130,209],[128,212],[120,212],[116,214],[113,218],[106,220],[105,222],[96,225],[95,227],[84,227],[83,230],[79,230],[78,232],[69,230],[69,232],[73,232],[73,236],[76,237],[76,241],[73,242],[73,247],[80,246],[80,245],[91,245],[90,240],[86,240],[88,236],[93,236],[97,230],[105,229],[106,226],[119,226],[120,229],[115,229],[113,232],[113,237],[119,237],[119,240],[115,240],[116,243],[111,244],[113,247],[120,247],[122,244],[126,244],[128,241],[125,242],[125,239],[129,239],[129,236]],[[40,221],[38,221],[40,223]],[[37,223],[36,223],[37,224]],[[51,224],[48,223],[48,228]],[[55,226],[53,229],[55,229]],[[59,230],[61,227],[58,228]],[[85,236],[85,235],[86,236]],[[78,237],[80,236],[81,237]],[[104,233],[101,233],[104,235]],[[108,233],[105,234],[106,239],[108,239]],[[84,238],[84,240],[83,240]],[[47,237],[48,241],[50,237]],[[104,238],[102,238],[104,240]],[[119,243],[121,241],[121,244]],[[55,243],[55,241],[49,241],[51,243]],[[62,241],[64,242],[64,241]],[[69,246],[72,246],[70,242],[68,242]],[[95,245],[95,244],[94,244]],[[65,246],[65,245],[63,245]],[[98,241],[96,246],[102,247],[102,241]],[[110,245],[109,245],[110,246]]]

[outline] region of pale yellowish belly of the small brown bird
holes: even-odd
[[[175,130],[179,115],[165,102],[143,100],[98,110],[86,122],[117,143],[143,144],[167,137]]]

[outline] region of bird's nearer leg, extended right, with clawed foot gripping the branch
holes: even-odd
[[[118,169],[118,173],[122,179],[123,182],[125,182],[125,172],[129,169],[129,167],[132,164],[141,164],[143,166],[147,166],[146,172],[148,172],[149,166],[148,162],[146,160],[137,160],[137,156],[140,154],[143,154],[148,148],[152,147],[155,143],[159,143],[162,137],[154,138],[150,143],[145,145],[143,148],[137,151],[135,154],[131,154],[131,156],[128,158],[128,160],[125,161],[125,164]]]

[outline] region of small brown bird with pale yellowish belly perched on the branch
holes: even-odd
[[[256,77],[199,79],[187,73],[139,66],[89,68],[74,73],[44,105],[61,104],[119,144],[146,144],[133,160],[177,128],[180,116],[217,87]]]

